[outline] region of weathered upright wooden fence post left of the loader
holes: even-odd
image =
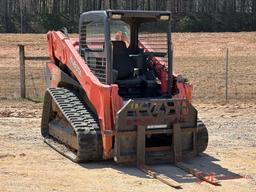
[[[26,73],[25,73],[25,49],[24,45],[19,46],[20,56],[20,97],[26,98]]]

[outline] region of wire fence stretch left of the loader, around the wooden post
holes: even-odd
[[[46,44],[28,44],[26,55],[47,56]],[[26,97],[42,100],[46,86],[46,61],[25,61]],[[20,61],[17,44],[0,44],[0,99],[20,98]]]

